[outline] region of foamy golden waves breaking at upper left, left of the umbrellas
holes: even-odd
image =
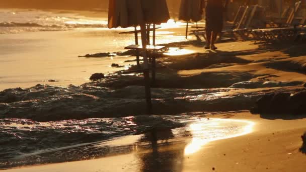
[[[106,28],[107,18],[90,18],[72,13],[39,10],[0,10],[0,33],[64,31],[78,28]]]

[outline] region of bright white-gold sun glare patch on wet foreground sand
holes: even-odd
[[[185,147],[185,155],[199,151],[210,141],[233,138],[249,134],[254,122],[234,119],[210,119],[192,123],[189,130],[192,134],[190,143]]]

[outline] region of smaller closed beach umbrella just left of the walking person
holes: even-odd
[[[186,22],[202,20],[204,0],[182,0],[179,19]]]

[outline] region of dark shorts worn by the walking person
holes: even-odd
[[[221,33],[223,28],[223,7],[206,6],[206,31]]]

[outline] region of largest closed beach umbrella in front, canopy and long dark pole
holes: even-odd
[[[150,80],[146,54],[146,24],[160,24],[170,19],[166,0],[110,0],[108,28],[140,26],[145,95],[151,109]]]

